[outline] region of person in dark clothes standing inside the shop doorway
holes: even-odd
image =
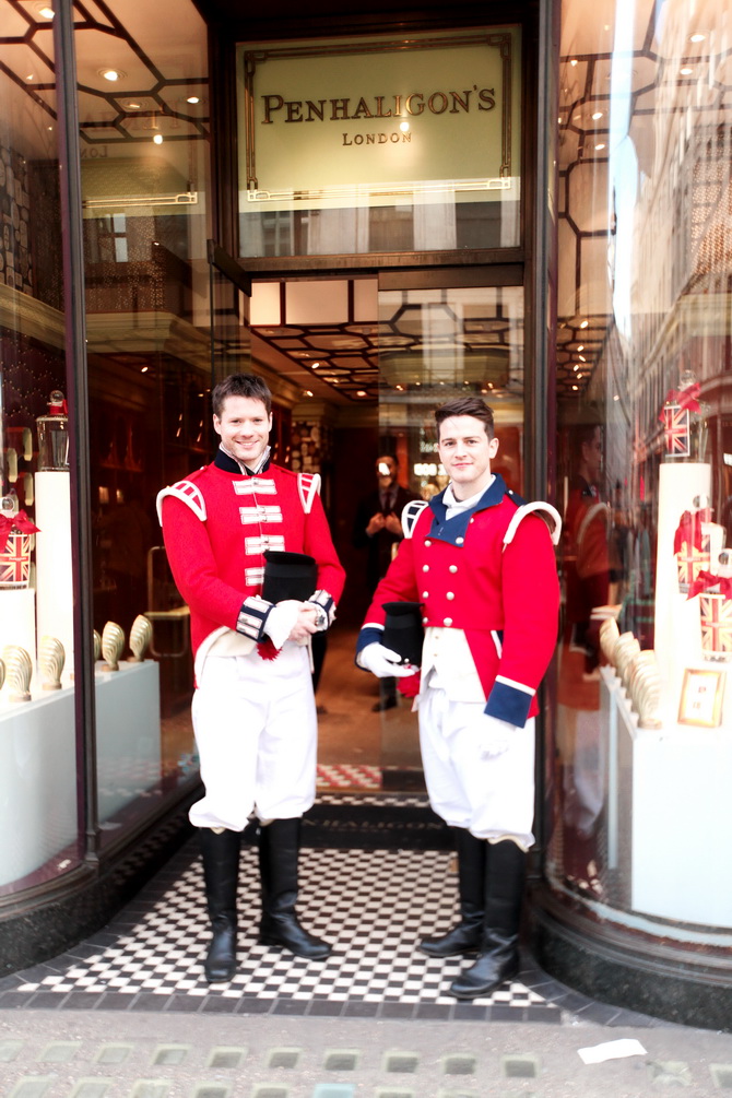
[[[402,512],[407,503],[419,498],[399,484],[399,467],[393,453],[376,458],[375,473],[373,491],[364,495],[358,505],[352,537],[354,548],[367,551],[365,579],[370,595],[386,574],[394,551],[404,537]],[[396,704],[396,680],[380,680],[379,701],[374,703],[373,712],[393,709]]]

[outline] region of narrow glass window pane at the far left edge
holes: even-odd
[[[53,30],[48,9],[5,2],[0,21],[3,896],[74,869],[79,851]]]

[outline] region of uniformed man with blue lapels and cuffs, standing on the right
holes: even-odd
[[[357,663],[380,677],[412,675],[414,666],[381,642],[383,604],[420,606],[421,757],[430,804],[454,830],[461,914],[420,949],[435,957],[477,953],[450,987],[473,999],[519,967],[537,690],[556,642],[552,541],[561,519],[549,504],[525,504],[492,472],[498,439],[483,400],[457,397],[435,419],[450,481],[429,503],[406,507],[404,541],[376,587]]]

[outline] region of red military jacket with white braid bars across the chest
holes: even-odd
[[[210,466],[158,495],[176,585],[191,610],[194,657],[227,629],[266,636],[271,604],[261,597],[266,549],[303,552],[317,563],[317,602],[333,620],[346,573],[336,556],[320,478],[266,464],[256,474],[218,451]]]

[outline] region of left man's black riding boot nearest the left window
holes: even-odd
[[[204,972],[209,983],[232,979],[236,972],[236,889],[239,883],[238,831],[217,833],[199,828],[203,879],[213,938]]]

